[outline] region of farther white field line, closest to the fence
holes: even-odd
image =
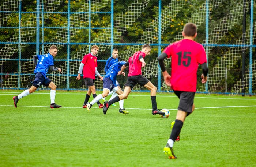
[[[11,94],[6,94],[6,92],[5,92],[5,94],[1,94],[1,93],[3,93],[3,92],[0,92],[0,96],[3,96],[3,95],[18,95],[18,93],[17,94],[14,94],[14,93],[11,93]],[[19,92],[20,93],[20,92]],[[30,95],[44,95],[44,94],[49,94],[50,95],[50,92],[49,93],[33,93],[33,94],[30,94]],[[72,94],[72,93],[61,93],[61,92],[59,92],[59,93],[56,93],[56,95],[85,95],[85,93],[81,93],[81,94],[78,94],[78,93],[74,93],[74,94]],[[129,96],[150,96],[150,94],[148,94],[148,95],[129,95]],[[164,98],[177,98],[177,96],[163,96],[163,95],[157,95],[157,97],[164,97]],[[215,98],[215,97],[197,97],[197,96],[195,96],[195,98],[199,98],[199,99],[231,99],[231,100],[256,100],[256,99],[249,99],[249,98]]]

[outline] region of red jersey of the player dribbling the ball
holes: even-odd
[[[142,51],[135,52],[132,57],[129,58],[129,73],[128,76],[141,75],[141,62],[139,56],[142,56],[143,59],[146,54]]]

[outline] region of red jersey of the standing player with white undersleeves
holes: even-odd
[[[82,63],[84,64],[83,78],[95,79],[95,67],[98,67],[97,57],[89,53],[83,57]]]

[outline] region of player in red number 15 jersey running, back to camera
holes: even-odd
[[[197,27],[193,23],[185,24],[182,31],[184,39],[167,46],[158,57],[158,62],[163,73],[163,79],[180,99],[176,120],[172,132],[163,151],[170,159],[176,158],[173,153],[173,144],[180,134],[186,116],[195,109],[194,97],[197,83],[198,65],[202,65],[203,74],[201,82],[206,83],[208,66],[206,53],[201,44],[194,41],[197,36]],[[172,57],[171,75],[166,71],[164,59]],[[172,77],[171,77],[172,76]]]

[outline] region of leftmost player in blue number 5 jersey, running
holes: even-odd
[[[53,83],[52,80],[50,80],[48,77],[46,77],[46,73],[48,72],[49,68],[52,71],[60,71],[61,72],[60,68],[54,67],[53,57],[55,57],[57,55],[57,52],[58,52],[57,47],[55,45],[52,45],[50,47],[49,53],[47,53],[45,55],[36,55],[33,57],[34,64],[36,66],[35,70],[34,70],[35,80],[33,81],[33,84],[29,89],[23,91],[18,96],[14,96],[12,98],[14,101],[14,106],[16,108],[17,108],[17,103],[21,98],[35,92],[35,90],[37,90],[37,88],[41,85],[48,86],[51,89],[50,90],[50,99],[51,99],[50,108],[61,107],[61,106],[55,104],[55,93],[56,93],[57,86]],[[38,63],[37,63],[37,60],[39,60]]]

